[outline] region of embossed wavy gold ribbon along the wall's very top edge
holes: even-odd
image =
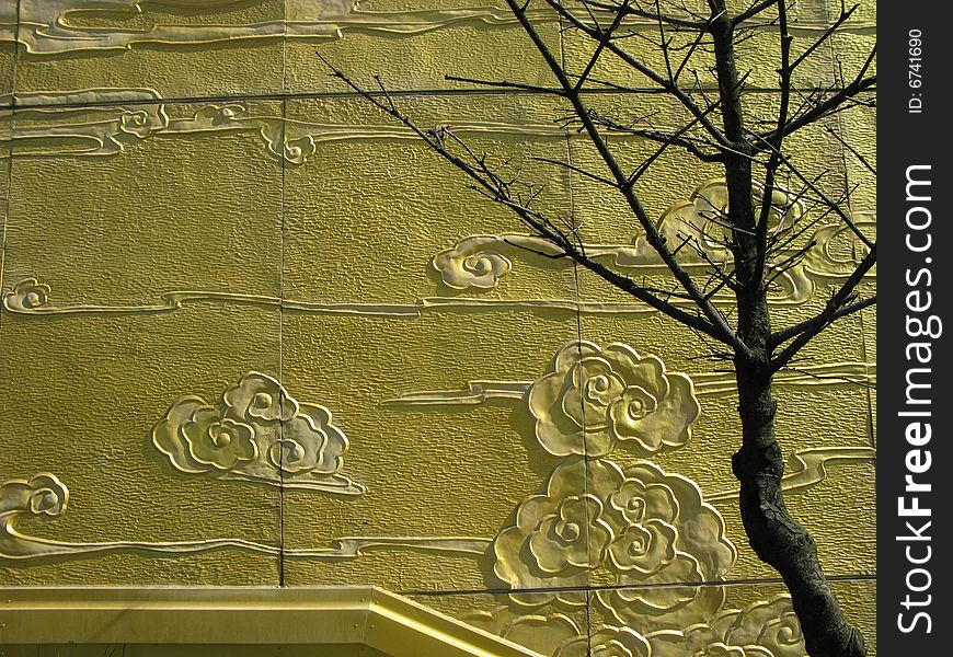
[[[19,43],[32,55],[54,55],[81,50],[129,49],[136,45],[246,45],[292,38],[326,41],[342,38],[345,32],[412,36],[456,25],[513,25],[516,20],[506,8],[473,7],[450,10],[375,12],[357,7],[357,0],[285,0],[285,19],[246,25],[162,23],[151,20],[151,8],[227,11],[246,5],[248,0],[21,0],[20,30],[16,7],[0,8],[0,41]],[[530,10],[535,21],[552,21],[546,10]],[[605,18],[610,14],[605,12]],[[193,14],[194,15],[194,14]],[[117,22],[118,21],[118,22]],[[110,24],[111,23],[111,24]],[[647,20],[627,20],[633,30],[654,30]],[[770,25],[755,28],[776,30]],[[823,22],[801,21],[791,25],[795,35],[825,30]],[[869,34],[870,21],[852,21],[843,30]]]

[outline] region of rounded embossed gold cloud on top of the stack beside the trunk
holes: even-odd
[[[604,457],[617,440],[647,453],[681,447],[700,411],[691,379],[621,343],[570,343],[527,402],[537,440],[556,457]]]

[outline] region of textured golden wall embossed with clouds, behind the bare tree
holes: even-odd
[[[604,262],[662,276],[619,200],[532,160],[594,162],[559,103],[444,79],[548,83],[498,4],[0,0],[0,585],[374,586],[544,655],[803,654],[740,523],[732,374],[690,331],[524,249],[547,246],[315,55],[520,158]],[[799,2],[795,36],[835,5]],[[862,61],[872,7],[799,84]],[[594,103],[680,117],[659,95]],[[873,110],[827,125],[873,158]],[[873,176],[825,127],[799,154],[858,185],[872,230]],[[724,203],[716,176],[673,153],[639,192],[675,234]],[[836,224],[814,238],[779,324],[862,256]],[[869,645],[874,342],[872,312],[846,319],[776,391],[789,507]]]

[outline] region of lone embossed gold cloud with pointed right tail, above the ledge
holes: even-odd
[[[215,406],[195,395],[173,402],[152,443],[181,472],[290,488],[360,495],[341,474],[347,438],[331,412],[301,404],[272,377],[250,372]]]

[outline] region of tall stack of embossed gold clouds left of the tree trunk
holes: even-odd
[[[623,445],[640,457],[685,446],[700,413],[687,376],[621,343],[577,341],[523,399],[540,445],[561,461],[493,540],[493,575],[510,603],[468,620],[561,657],[804,655],[789,597],[723,609],[725,587],[714,584],[737,551],[694,482],[606,458]],[[571,614],[590,608],[609,624],[581,629]]]

